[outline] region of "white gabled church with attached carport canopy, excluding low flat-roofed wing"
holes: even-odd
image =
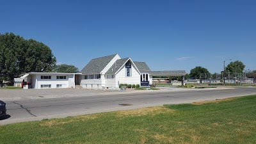
[[[145,62],[120,58],[118,54],[95,58],[81,70],[83,88],[118,88],[119,84],[148,87],[153,76],[185,76],[184,70],[151,71]]]

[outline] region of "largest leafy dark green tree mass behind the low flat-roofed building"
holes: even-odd
[[[0,83],[26,72],[51,72],[56,58],[47,45],[13,33],[0,34]]]

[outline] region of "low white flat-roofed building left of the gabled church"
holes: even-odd
[[[76,75],[60,72],[29,72],[20,77],[24,79],[22,87],[28,88],[75,88]]]

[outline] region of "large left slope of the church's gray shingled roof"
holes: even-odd
[[[104,56],[92,59],[81,71],[82,74],[100,74],[100,72],[108,65],[108,63],[116,56]]]

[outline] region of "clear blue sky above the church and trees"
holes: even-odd
[[[227,59],[256,69],[256,1],[1,1],[6,32],[43,42],[79,70],[116,53],[151,70],[220,72]]]

